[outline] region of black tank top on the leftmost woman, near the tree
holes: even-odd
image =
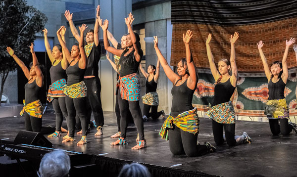
[[[36,79],[33,83],[25,85],[25,104],[38,100],[38,93],[41,88],[37,86]]]

